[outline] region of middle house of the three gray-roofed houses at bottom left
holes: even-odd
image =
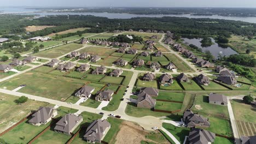
[[[71,135],[71,133],[78,127],[80,123],[83,122],[82,116],[76,116],[73,113],[68,113],[63,116],[60,121],[56,123],[54,131],[57,133],[62,133],[66,135]]]

